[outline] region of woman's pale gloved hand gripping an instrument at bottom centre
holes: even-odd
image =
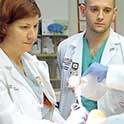
[[[71,110],[71,114],[64,124],[86,124],[88,111],[83,106],[74,103],[71,106]]]

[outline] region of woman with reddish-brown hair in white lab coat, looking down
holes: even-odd
[[[34,0],[0,1],[0,124],[70,123],[55,108],[46,62],[27,53],[40,15]]]

